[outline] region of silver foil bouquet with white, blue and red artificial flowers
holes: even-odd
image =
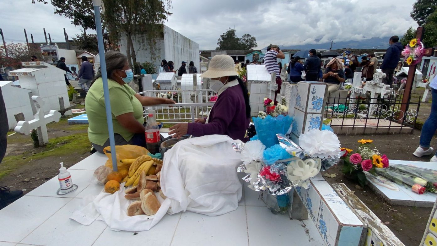
[[[260,134],[260,132],[258,132]],[[289,207],[288,193],[294,187],[309,187],[309,178],[320,170],[338,163],[341,156],[338,137],[328,130],[310,130],[299,137],[301,146],[284,134],[277,134],[278,144],[266,147],[258,139],[246,144],[233,144],[243,162],[237,172],[245,172],[243,178],[252,190],[262,192],[262,197],[273,213],[285,213]],[[276,206],[268,200],[276,198]]]

